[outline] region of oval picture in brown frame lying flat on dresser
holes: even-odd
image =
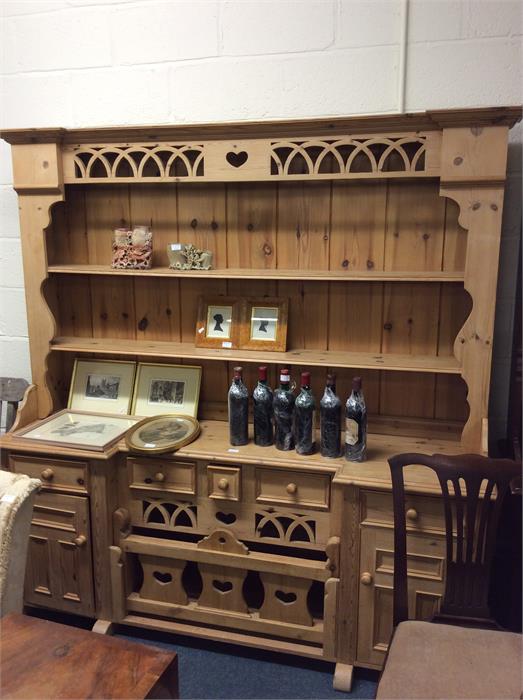
[[[196,440],[200,424],[192,416],[164,414],[144,418],[127,431],[125,443],[133,452],[173,452]]]

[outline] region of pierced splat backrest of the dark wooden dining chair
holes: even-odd
[[[407,528],[403,469],[434,470],[443,496],[446,586],[440,615],[489,621],[488,592],[496,532],[510,482],[521,464],[481,455],[400,454],[389,459],[394,505],[394,625],[408,619]]]

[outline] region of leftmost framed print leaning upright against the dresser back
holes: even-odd
[[[76,358],[67,408],[129,415],[135,371],[135,362]]]

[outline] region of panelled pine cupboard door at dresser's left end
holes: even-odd
[[[86,497],[37,496],[29,536],[25,602],[82,615],[94,613]]]

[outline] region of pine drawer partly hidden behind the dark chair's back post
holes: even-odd
[[[392,494],[363,491],[361,494],[361,522],[368,525],[394,527]],[[406,495],[407,528],[414,532],[444,533],[443,499]]]

